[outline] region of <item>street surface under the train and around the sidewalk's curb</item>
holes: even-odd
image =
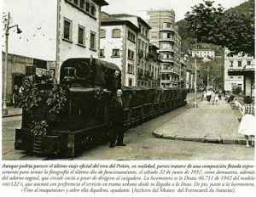
[[[191,96],[192,97],[192,96]],[[152,132],[166,122],[193,108],[189,104],[161,115],[125,132],[125,147],[108,148],[108,143],[90,149],[75,158],[61,160],[253,160],[254,149],[241,144],[210,144],[154,138]],[[55,160],[38,155],[26,155],[15,150],[15,128],[21,116],[3,118],[3,160]],[[235,154],[234,154],[235,153]],[[59,160],[59,159],[58,159]]]

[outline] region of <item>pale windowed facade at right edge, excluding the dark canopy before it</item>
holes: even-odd
[[[229,55],[230,51],[228,48],[224,50],[224,90],[232,91],[233,87],[240,87],[242,91],[245,91],[245,77],[242,74],[242,70],[254,69],[255,63],[252,56],[247,54],[242,55],[238,53],[237,55]],[[241,75],[230,75],[230,71],[236,71],[236,73],[241,73]],[[253,82],[249,82],[247,88],[254,89]]]

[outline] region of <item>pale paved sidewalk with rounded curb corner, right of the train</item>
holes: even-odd
[[[200,101],[198,108],[190,108],[182,115],[153,132],[156,138],[195,141],[201,143],[245,144],[245,138],[239,134],[239,112],[232,110],[230,104],[220,100],[218,104]]]

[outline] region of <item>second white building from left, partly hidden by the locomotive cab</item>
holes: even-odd
[[[122,71],[122,84],[137,83],[137,32],[130,20],[120,20],[102,12],[100,59],[113,62]]]

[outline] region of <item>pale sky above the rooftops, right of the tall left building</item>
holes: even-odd
[[[176,14],[176,21],[183,20],[186,12],[191,11],[191,6],[202,3],[203,0],[105,0],[108,6],[103,6],[102,11],[108,14],[133,14],[148,20],[147,10],[154,8],[172,8]],[[220,3],[225,9],[234,8],[247,0],[215,0],[215,5]]]

